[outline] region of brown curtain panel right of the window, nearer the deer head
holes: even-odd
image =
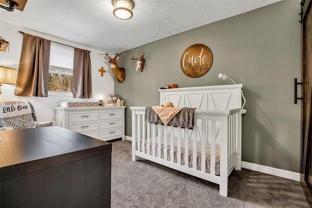
[[[91,98],[90,51],[75,48],[73,69],[73,98]]]

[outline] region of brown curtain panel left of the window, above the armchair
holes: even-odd
[[[50,40],[24,34],[15,95],[48,96],[50,45]]]

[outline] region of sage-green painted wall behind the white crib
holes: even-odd
[[[130,106],[159,105],[158,89],[228,84],[226,73],[242,83],[247,113],[242,119],[242,160],[300,172],[300,102],[293,104],[293,78],[301,80],[300,0],[283,0],[125,52],[119,66],[126,80],[115,81],[115,94],[125,100],[126,135],[131,136]],[[211,69],[198,78],[185,76],[180,58],[190,45],[213,52]],[[143,73],[129,53],[144,48]]]

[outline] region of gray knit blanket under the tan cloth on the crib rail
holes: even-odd
[[[180,126],[184,128],[192,128],[194,126],[194,110],[196,108],[183,108],[179,113],[169,121],[168,126]],[[163,124],[152,106],[145,108],[145,122]]]

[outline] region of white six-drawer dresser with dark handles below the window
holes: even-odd
[[[76,107],[56,108],[57,125],[103,141],[125,140],[125,108]]]

